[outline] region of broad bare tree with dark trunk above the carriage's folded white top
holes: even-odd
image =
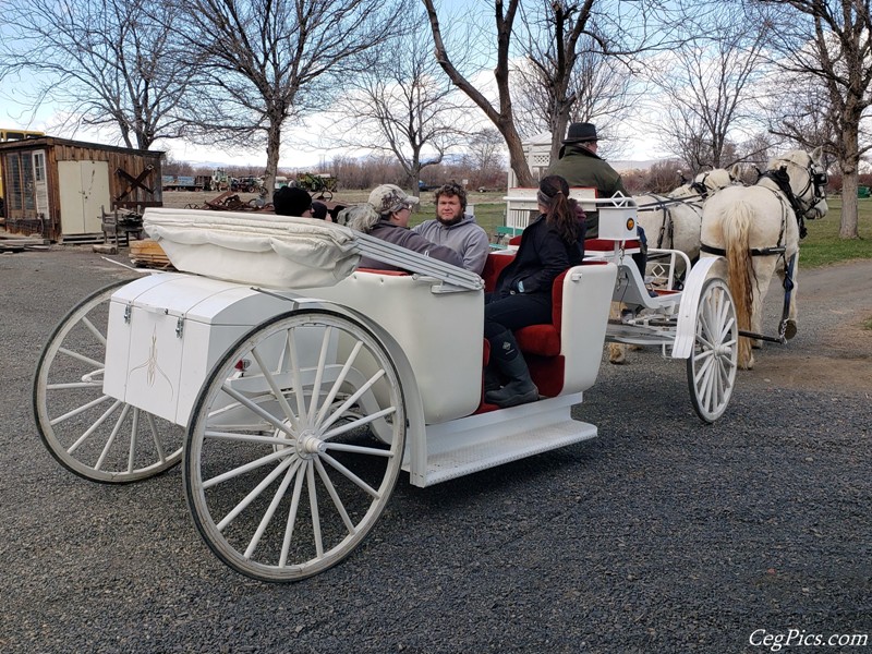
[[[384,0],[191,0],[187,9],[179,29],[202,61],[199,137],[265,145],[270,193],[282,129],[326,108],[400,13]]]

